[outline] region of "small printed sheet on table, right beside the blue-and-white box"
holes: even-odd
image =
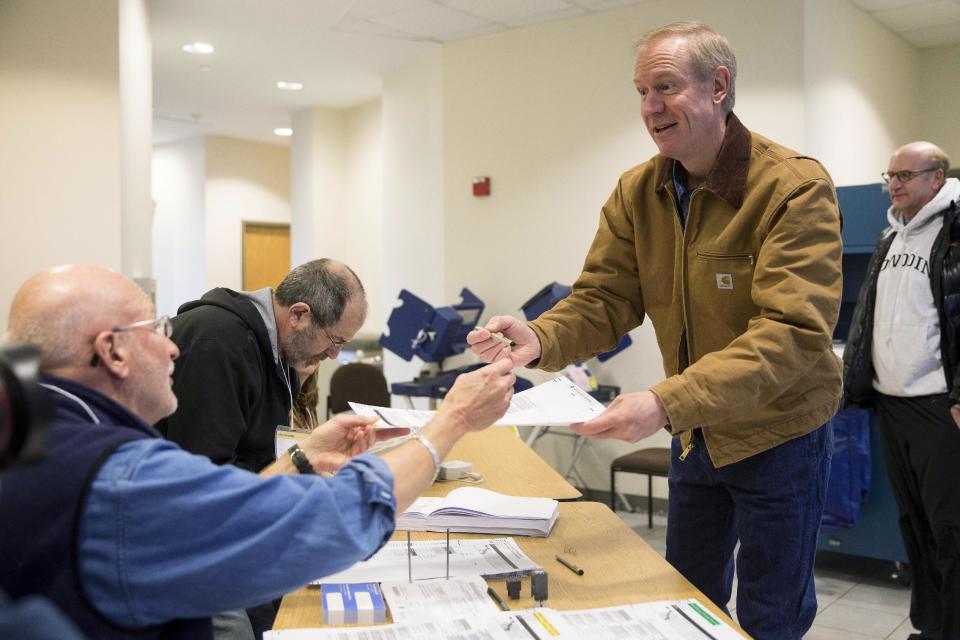
[[[487,581],[481,576],[384,582],[380,591],[394,622],[478,618],[500,611],[487,594]]]

